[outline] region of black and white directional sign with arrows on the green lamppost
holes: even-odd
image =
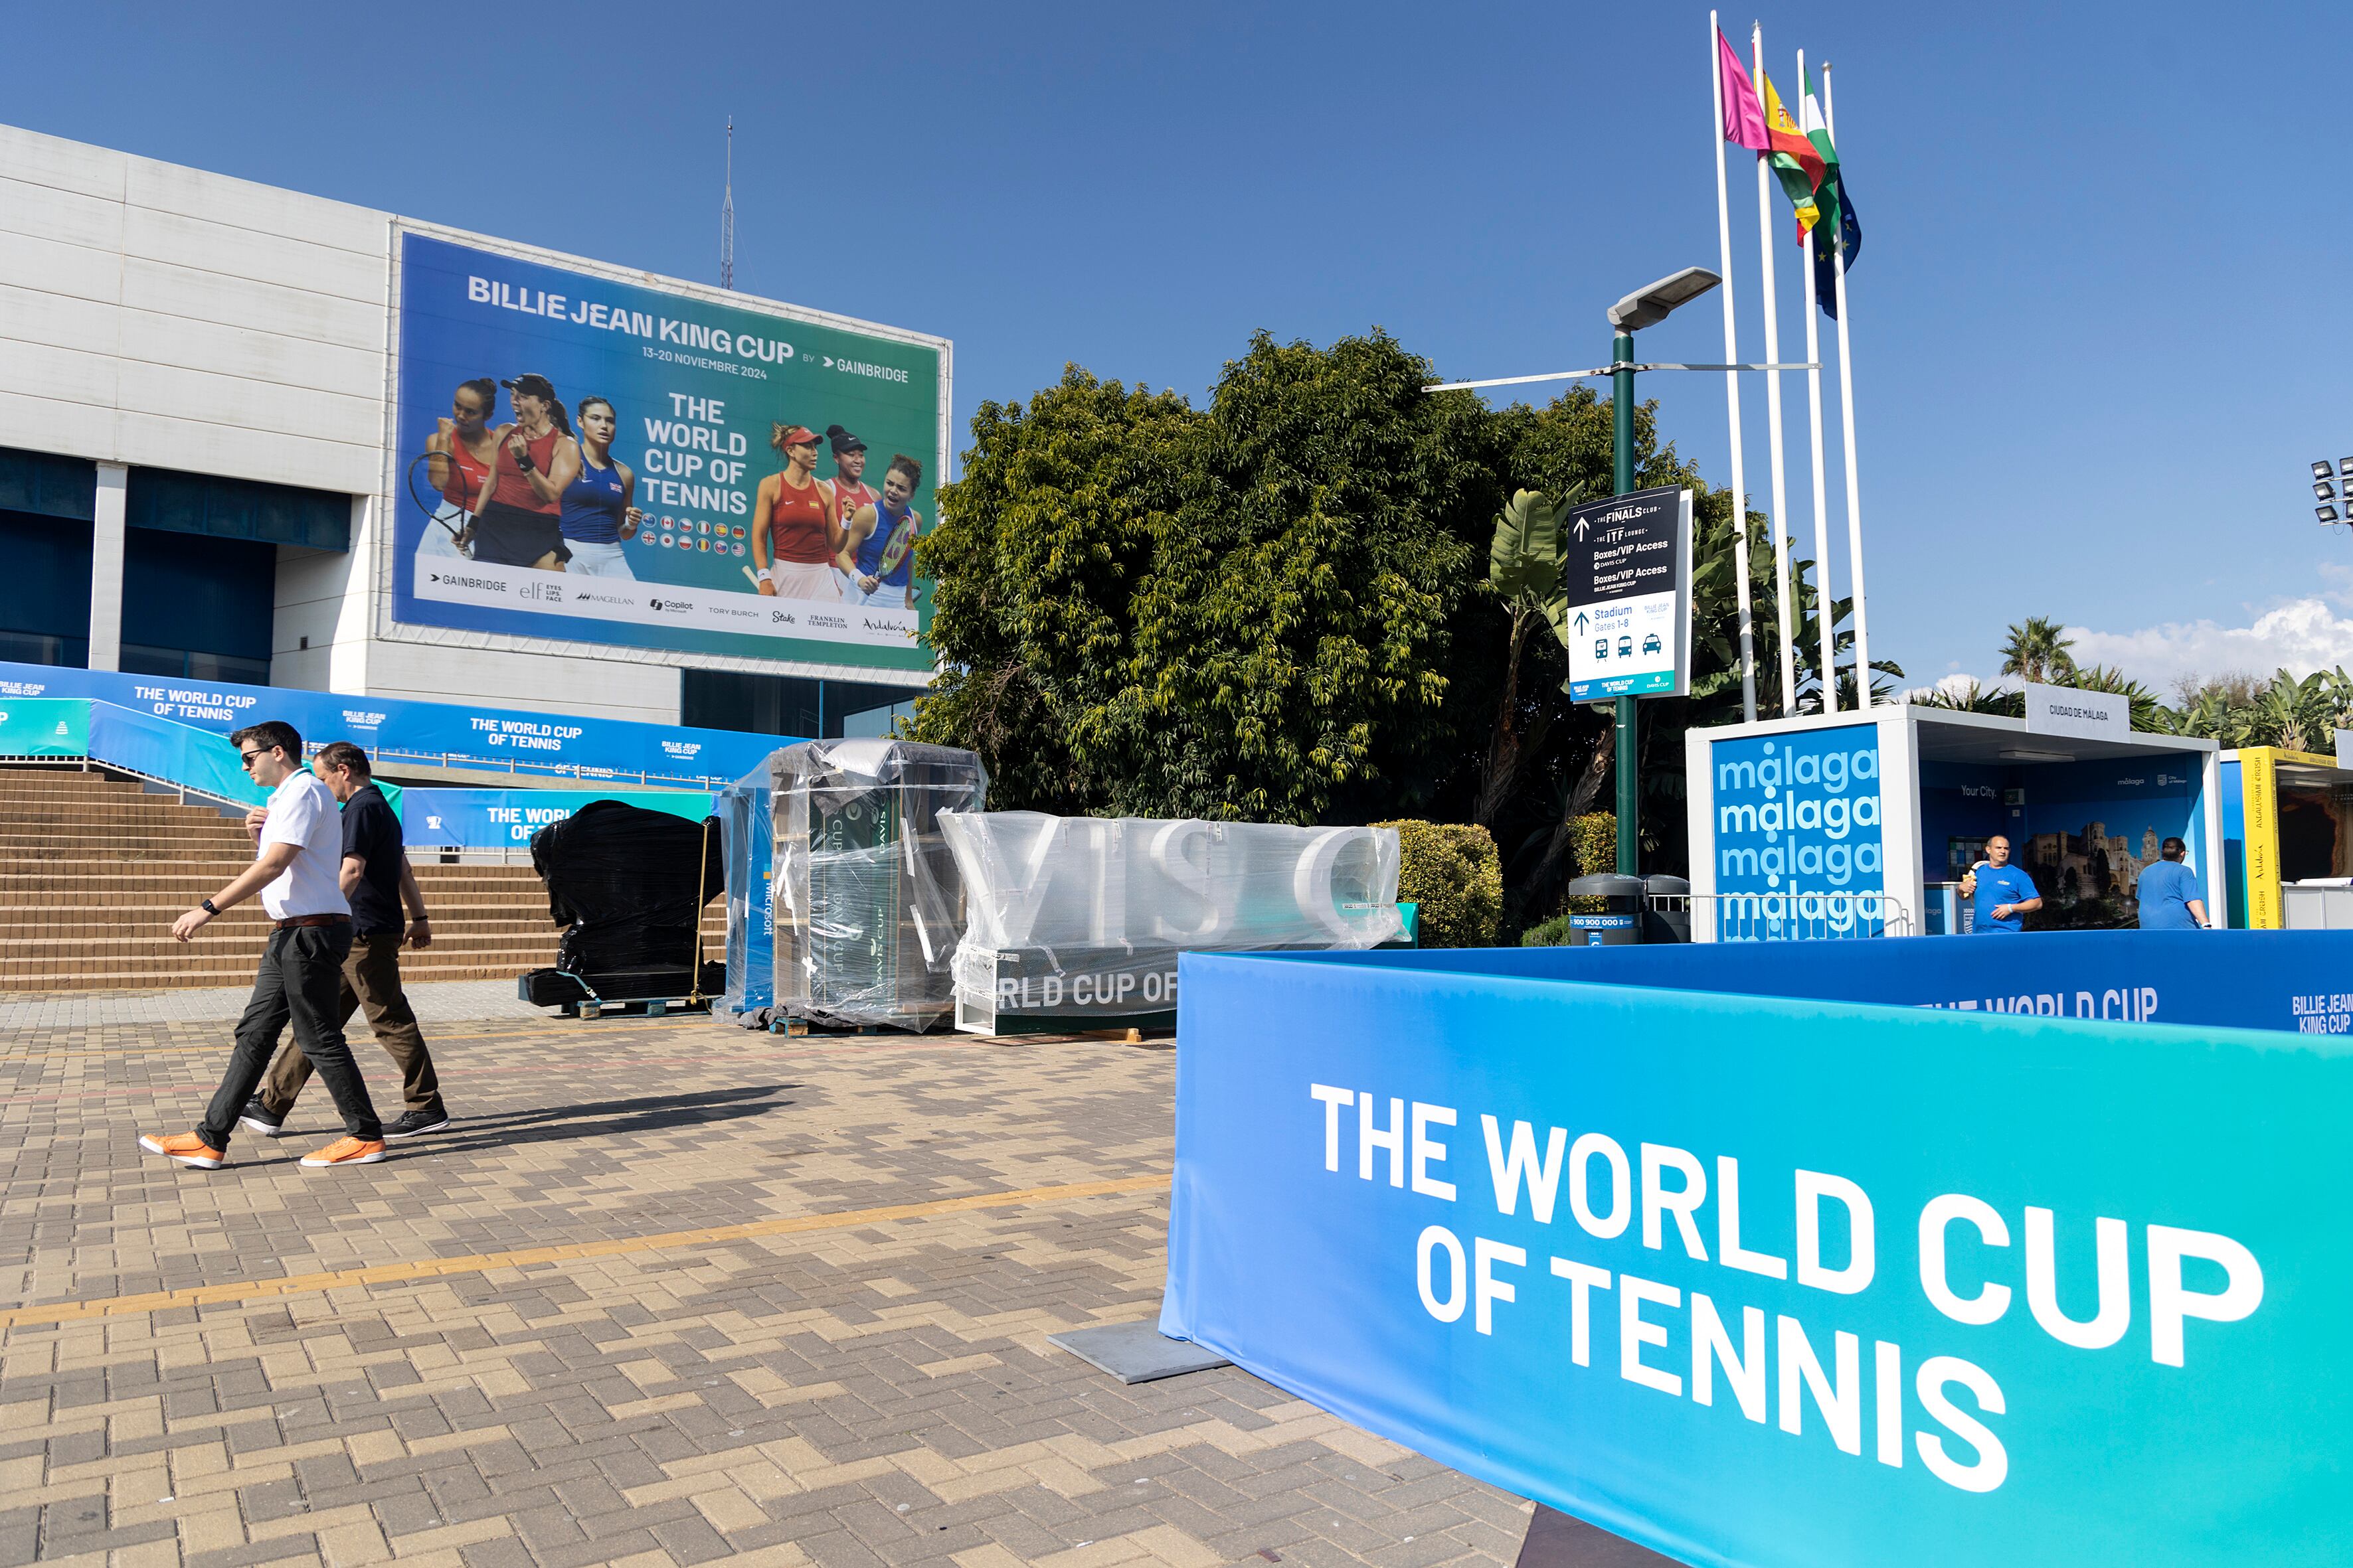
[[[1565,522],[1569,698],[1685,696],[1692,684],[1692,491],[1588,501]]]

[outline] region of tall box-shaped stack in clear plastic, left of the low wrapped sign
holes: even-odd
[[[965,891],[941,813],[979,811],[972,752],[913,741],[802,741],[769,757],[776,1009],[929,1030],[953,1006]]]

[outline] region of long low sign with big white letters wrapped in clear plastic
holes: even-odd
[[[1285,827],[1035,811],[941,818],[965,879],[955,1025],[984,1034],[1176,1009],[1179,952],[1405,938],[1395,827]]]

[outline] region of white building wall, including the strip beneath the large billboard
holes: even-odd
[[[381,581],[393,228],[386,212],[0,125],[5,442],[351,496],[348,552],[278,548],[266,644],[280,686],[675,724],[685,663],[868,677],[395,625]],[[120,510],[113,534],[73,527],[96,527],[106,576]],[[134,614],[122,607],[125,642],[139,642]]]

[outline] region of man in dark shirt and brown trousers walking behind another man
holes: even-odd
[[[353,1009],[367,1009],[367,1027],[376,1032],[376,1044],[400,1067],[400,1091],[407,1110],[398,1121],[384,1124],[386,1143],[438,1133],[449,1126],[442,1107],[440,1079],[433,1074],[433,1053],[416,1027],[416,1011],[400,990],[400,943],[424,947],[433,940],[426,919],[426,898],[409,870],[407,849],[400,842],[400,816],[384,799],[367,752],[351,741],[322,745],[311,759],[311,771],[344,802],[344,898],[351,900],[351,957],[344,959],[341,1018],[351,1023]],[[407,903],[409,919],[402,922],[400,905]],[[294,1095],[311,1081],[311,1058],[299,1044],[278,1053],[271,1074],[261,1081],[238,1117],[242,1126],[264,1138],[285,1133],[287,1112]]]

